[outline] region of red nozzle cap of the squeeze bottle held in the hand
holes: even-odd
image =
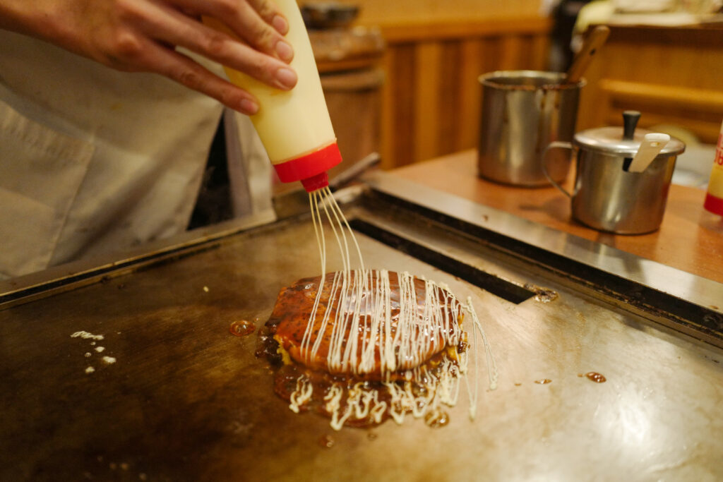
[[[333,142],[309,154],[274,164],[274,168],[282,182],[301,181],[304,189],[311,192],[329,185],[326,171],[338,163],[341,163],[341,152]]]

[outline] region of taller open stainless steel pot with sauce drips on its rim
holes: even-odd
[[[498,71],[479,77],[479,176],[515,186],[549,186],[542,153],[550,142],[570,141],[575,133],[581,80],[565,84],[561,72]],[[552,152],[549,175],[562,181],[570,158]]]

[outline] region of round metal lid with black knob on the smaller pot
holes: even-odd
[[[597,127],[575,134],[575,144],[584,149],[632,158],[638,152],[645,134],[652,132],[646,129],[636,129],[633,139],[623,139],[622,127]],[[678,155],[684,150],[683,141],[671,136],[659,155]]]

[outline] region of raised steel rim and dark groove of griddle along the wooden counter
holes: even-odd
[[[494,249],[503,256],[527,264],[527,269],[547,272],[558,280],[561,277],[591,296],[643,314],[673,330],[723,346],[723,330],[716,322],[719,312],[713,308],[719,309],[717,300],[723,299],[721,283],[414,183],[397,178],[393,183],[390,181],[379,174],[369,178],[375,188],[372,197],[375,200],[367,202],[368,205],[392,203],[399,210],[418,215],[418,223],[433,221],[444,225],[455,232],[452,236],[468,238],[473,243]],[[390,190],[395,194],[390,194]],[[389,209],[385,207],[385,210]],[[484,227],[479,223],[482,214],[488,216]],[[579,251],[581,248],[584,251]],[[596,252],[615,254],[617,261],[609,262],[607,255],[596,257]],[[695,286],[696,290],[689,293],[689,286]],[[678,294],[690,298],[679,298]]]

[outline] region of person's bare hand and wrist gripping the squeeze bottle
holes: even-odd
[[[204,25],[223,22],[237,38]],[[155,72],[242,113],[256,98],[210,72],[184,47],[282,90],[296,85],[283,40],[286,17],[272,0],[0,0],[0,27],[55,43],[124,72]]]

